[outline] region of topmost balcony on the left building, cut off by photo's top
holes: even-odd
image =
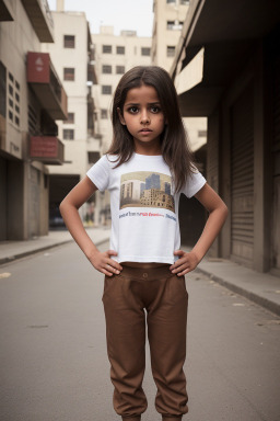
[[[42,43],[54,43],[54,21],[47,0],[22,0],[31,24]]]

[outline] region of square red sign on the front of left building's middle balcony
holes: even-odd
[[[27,53],[27,82],[49,83],[50,58],[48,53]]]

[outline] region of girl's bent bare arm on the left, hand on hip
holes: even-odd
[[[66,196],[66,198],[61,202],[59,209],[71,236],[93,266],[105,275],[110,276],[113,272],[119,273],[118,271],[122,269],[118,262],[109,258],[110,255],[117,255],[117,252],[114,250],[107,250],[102,253],[96,248],[91,238],[88,236],[78,212],[78,209],[96,190],[96,185],[93,184],[88,177],[85,177]]]

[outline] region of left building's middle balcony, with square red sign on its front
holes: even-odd
[[[27,53],[27,82],[54,120],[67,120],[67,94],[48,53]]]

